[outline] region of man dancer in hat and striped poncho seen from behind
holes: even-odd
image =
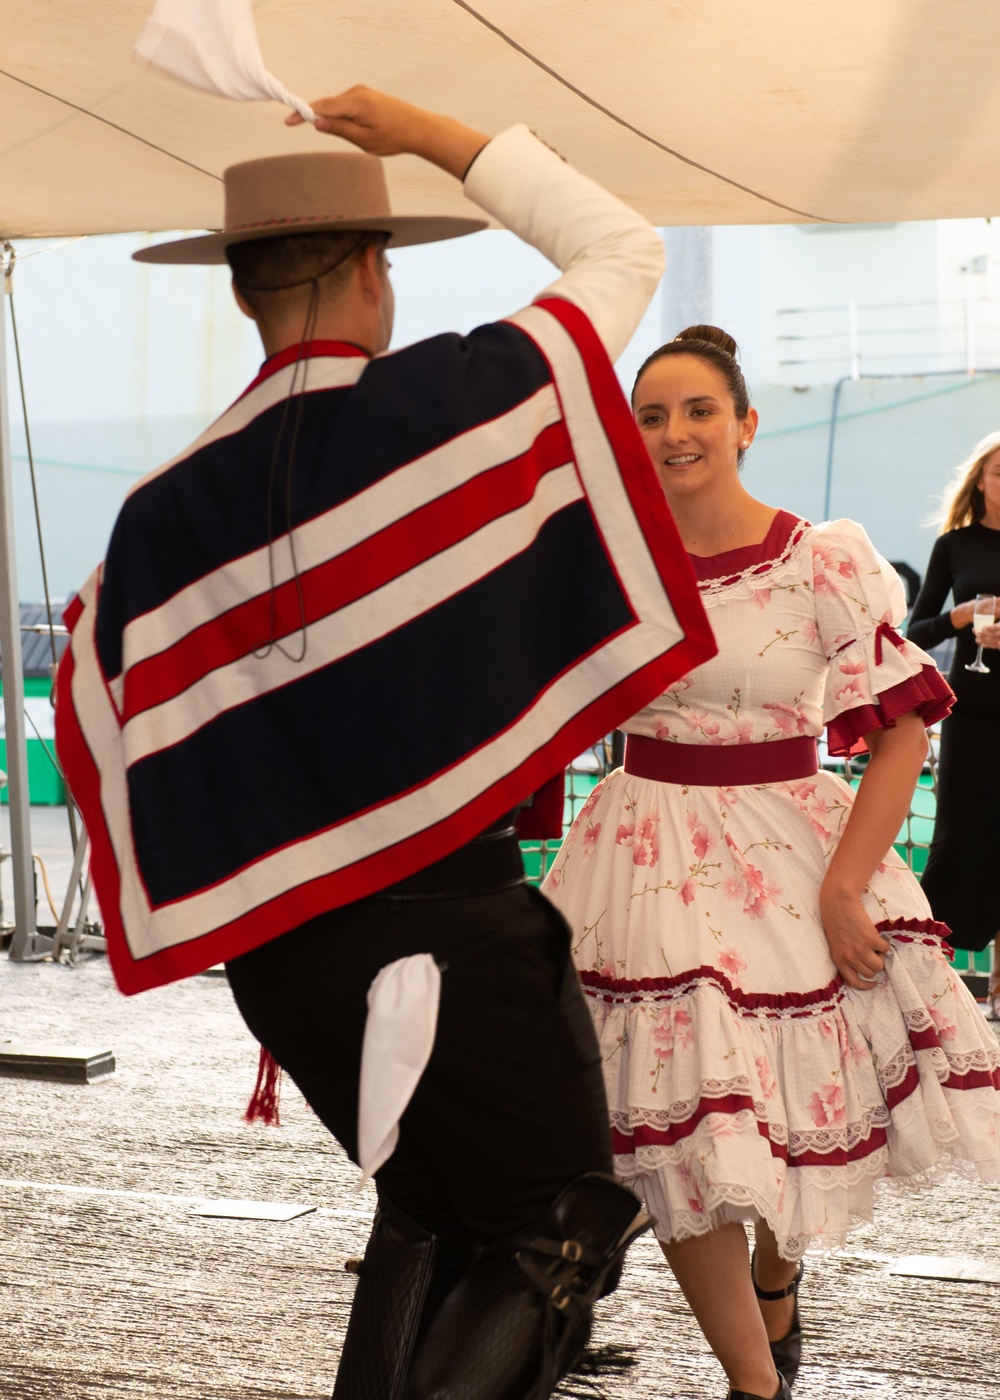
[[[315,111],[371,154],[234,167],[224,232],[137,255],[227,258],[268,360],[126,501],[59,748],[122,988],[224,959],[375,1173],[338,1400],[543,1400],[646,1218],[514,812],[713,650],[608,361],[661,242],[525,127]],[[385,354],[387,241],[480,227],[394,217],[402,151],[564,269],[545,301]]]

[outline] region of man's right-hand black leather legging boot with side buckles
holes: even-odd
[[[578,1177],[535,1229],[485,1250],[461,1278],[417,1350],[406,1400],[546,1400],[651,1224],[613,1177]]]

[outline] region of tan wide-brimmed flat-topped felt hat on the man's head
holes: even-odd
[[[461,238],[485,218],[394,214],[382,162],[363,151],[310,151],[241,161],[223,172],[225,224],[132,256],[153,263],[224,263],[225,249],[258,238],[371,230],[395,248]]]

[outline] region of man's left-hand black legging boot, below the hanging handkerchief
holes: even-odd
[[[401,1400],[422,1333],[472,1259],[468,1239],[430,1235],[380,1200],[333,1400]]]

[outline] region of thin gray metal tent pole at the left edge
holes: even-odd
[[[14,938],[10,956],[38,956],[35,879],[31,865],[31,809],[28,795],[28,746],[24,729],[24,673],[21,666],[21,610],[14,554],[14,487],[10,455],[7,399],[7,297],[11,294],[14,249],[3,248],[0,295],[0,676],[3,678],[4,734],[7,739],[7,795],[14,879]]]

